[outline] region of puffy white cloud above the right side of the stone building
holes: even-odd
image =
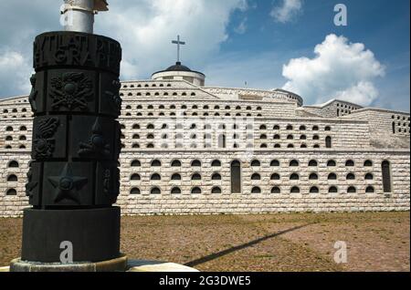
[[[373,80],[385,76],[385,67],[364,44],[332,34],[314,52],[314,58],[291,59],[283,66],[282,75],[289,79],[284,89],[317,103],[340,98],[367,106],[378,97]]]

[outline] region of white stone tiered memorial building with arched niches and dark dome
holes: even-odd
[[[408,211],[410,115],[281,89],[207,87],[177,62],[124,81],[123,214]],[[0,216],[28,206],[32,114],[0,100]]]

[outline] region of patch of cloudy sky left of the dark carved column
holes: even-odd
[[[60,29],[59,6],[56,0],[0,1],[0,98],[30,92],[33,40]]]

